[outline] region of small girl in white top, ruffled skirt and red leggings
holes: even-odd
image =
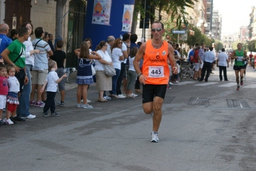
[[[18,93],[19,93],[19,81],[17,77],[15,77],[15,68],[13,65],[7,65],[7,72],[8,72],[8,86],[9,86],[9,92],[7,95],[7,110],[6,110],[6,124],[11,125],[13,123],[17,122],[12,122],[10,120],[10,115],[17,109],[17,106],[19,105],[19,100],[18,100]]]

